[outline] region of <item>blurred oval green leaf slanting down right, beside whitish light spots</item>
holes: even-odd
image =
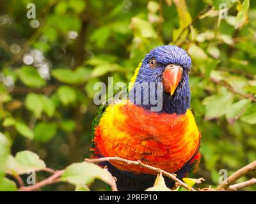
[[[20,81],[28,87],[40,88],[45,85],[45,80],[40,77],[33,66],[22,66],[17,73]]]

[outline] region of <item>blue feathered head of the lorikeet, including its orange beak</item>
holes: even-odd
[[[144,95],[153,95],[153,98],[163,97],[163,106],[160,112],[186,113],[190,103],[189,72],[191,69],[191,58],[188,53],[180,47],[164,45],[151,50],[136,70],[129,98],[132,101],[140,98],[141,106],[151,108],[156,106],[152,103],[143,103]],[[137,84],[137,86],[136,86]],[[138,84],[151,84],[147,89]],[[152,86],[152,84],[154,84]],[[162,89],[158,89],[159,85]],[[132,94],[131,94],[132,93]]]

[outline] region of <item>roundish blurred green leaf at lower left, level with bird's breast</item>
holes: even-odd
[[[39,122],[34,129],[34,140],[36,142],[48,142],[56,135],[57,125],[49,122]]]

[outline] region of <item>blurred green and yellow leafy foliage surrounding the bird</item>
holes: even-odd
[[[28,3],[35,3],[36,19],[26,17]],[[228,7],[227,18],[219,18],[225,15],[221,3]],[[108,77],[129,82],[157,45],[179,45],[193,61],[191,106],[203,154],[195,178],[205,179],[200,187],[218,185],[220,169],[230,175],[255,160],[255,1],[1,0],[0,5],[1,190],[17,190],[14,178],[26,182],[29,168],[40,171],[38,181],[49,177],[45,166],[62,170],[70,164],[63,182],[42,190],[87,191],[83,184],[108,189],[97,166],[81,163],[90,157],[97,111],[93,85]]]

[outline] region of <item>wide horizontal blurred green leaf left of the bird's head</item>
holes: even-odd
[[[80,84],[86,82],[91,77],[91,71],[84,67],[79,67],[75,71],[71,69],[54,69],[52,76],[67,84]]]

